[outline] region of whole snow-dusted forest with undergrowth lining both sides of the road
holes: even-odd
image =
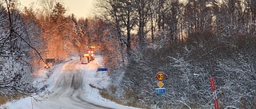
[[[44,59],[58,64],[96,45],[113,80],[102,94],[119,103],[213,108],[214,76],[221,108],[256,108],[254,0],[98,0],[93,18],[67,15],[62,2],[39,2],[38,10],[0,2],[1,96],[45,93],[31,84]],[[155,93],[160,71],[163,95]]]

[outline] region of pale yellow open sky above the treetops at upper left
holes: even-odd
[[[29,7],[31,2],[34,2],[35,6],[39,6],[38,0],[18,0],[22,6]],[[58,0],[57,0],[58,1]],[[88,18],[92,16],[92,10],[94,8],[95,0],[61,0],[67,10],[66,14],[74,14],[78,18]]]

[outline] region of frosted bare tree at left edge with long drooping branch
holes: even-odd
[[[28,41],[29,34],[22,22],[21,14],[14,8],[15,2],[6,0],[5,3],[6,8],[0,5],[0,94],[10,97],[17,94],[33,95],[44,91],[46,86],[39,88],[32,84],[32,65],[29,59],[31,50],[35,50],[39,58],[42,59],[42,56]]]

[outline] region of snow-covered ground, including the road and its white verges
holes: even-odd
[[[80,64],[77,58],[69,62],[58,64],[54,67],[54,73],[44,84],[49,84],[50,95],[45,99],[34,96],[36,99],[42,99],[37,102],[31,97],[19,99],[17,101],[6,103],[0,108],[7,109],[136,109],[135,107],[126,107],[114,103],[99,95],[97,88],[106,88],[110,84],[110,77],[107,72],[96,72],[101,67],[102,57],[89,64]],[[45,74],[38,77],[38,80],[44,80]],[[93,86],[93,87],[92,87]],[[96,88],[95,88],[96,87]]]

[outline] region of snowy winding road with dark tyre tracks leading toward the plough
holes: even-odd
[[[88,69],[91,63],[82,65]],[[34,107],[42,109],[111,109],[91,103],[86,99],[88,93],[86,93],[86,84],[83,84],[83,81],[90,80],[90,78],[83,78],[87,71],[79,69],[79,65],[81,65],[79,60],[71,60],[65,64],[58,79],[54,81],[52,93],[46,95],[47,99],[42,100],[41,103],[33,102]]]

